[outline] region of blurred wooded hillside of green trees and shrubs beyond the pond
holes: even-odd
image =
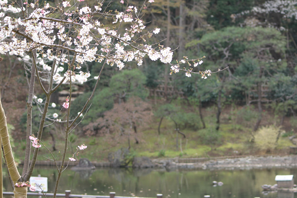
[[[201,79],[201,75],[192,74],[192,77],[187,77],[181,71],[169,75],[168,65],[149,58],[144,58],[141,66],[131,61],[121,71],[116,66],[106,65],[94,97],[76,123],[81,121],[73,131],[75,138],[72,141],[77,141],[77,137],[82,138],[86,134],[97,134],[94,138],[103,138],[102,134],[107,134],[112,136],[110,138],[115,142],[114,145],[104,139],[107,137],[103,138],[106,141],[92,137],[90,143],[106,147],[109,144],[116,149],[126,147],[129,140],[129,146],[134,144],[135,151],[140,155],[158,156],[162,151],[160,156],[164,156],[164,153],[172,154],[167,150],[176,150],[177,137],[174,129],[178,128],[186,136],[184,138],[178,135],[184,146],[194,149],[187,151],[188,155],[221,155],[229,151],[234,154],[232,149],[241,149],[239,153],[242,154],[265,153],[268,150],[273,152],[274,149],[288,148],[291,143],[285,140],[278,140],[280,144],[269,148],[267,145],[277,142],[276,138],[294,135],[297,130],[297,21],[295,16],[288,18],[279,12],[252,11],[254,7],[263,7],[264,2],[155,0],[146,4],[146,9],[138,9],[140,16],[143,15],[142,19],[147,22],[147,28],[161,28],[159,34],[147,39],[150,41],[147,44],[159,41],[165,47],[169,44],[171,49],[176,49],[173,62],[183,59],[183,56],[189,59],[206,56],[201,65],[193,68],[193,72],[225,70]],[[105,1],[104,6],[109,3],[110,0]],[[135,0],[130,0],[129,4],[138,8],[142,6],[142,2]],[[115,1],[108,9],[124,11],[125,7]],[[103,23],[105,27],[117,28],[118,24],[112,22],[105,20]],[[128,28],[131,24],[122,25]],[[168,43],[165,40],[167,31],[170,33]],[[103,62],[93,62],[82,67],[91,73],[91,79],[99,75],[102,65]],[[7,66],[3,71],[9,69]],[[21,67],[15,75],[22,76],[15,83],[25,82],[22,80],[24,75]],[[1,80],[2,85],[7,79],[4,76]],[[82,110],[91,96],[95,82],[91,79],[75,87],[83,94],[79,94],[71,102],[70,119],[75,118]],[[59,91],[67,89],[69,86],[63,85]],[[11,97],[6,95],[4,102],[25,101],[26,96],[21,91],[16,90],[13,94],[15,95]],[[36,91],[36,95],[42,98],[40,90]],[[59,105],[49,109],[49,118],[53,118],[53,113],[59,113],[62,100],[66,97],[61,99],[58,94],[53,96],[55,98]],[[11,119],[11,123],[17,128],[15,131],[26,130],[25,107],[22,107],[19,117],[16,116],[20,119],[20,125]],[[110,116],[116,110],[127,113],[125,122],[121,120],[125,118],[123,115]],[[147,111],[151,113],[148,114]],[[145,116],[143,112],[146,112]],[[32,131],[37,132],[40,110],[36,104],[32,113]],[[66,111],[62,109],[59,119],[65,120],[65,115]],[[48,119],[46,124],[50,123],[52,121]],[[56,122],[45,127],[44,138],[53,142],[50,133],[59,134],[63,126],[64,123]],[[103,130],[104,133],[87,133],[85,126],[88,126],[88,130]],[[112,126],[118,127],[117,135],[109,130]],[[278,134],[281,130],[285,130],[285,136]],[[271,139],[267,138],[266,141],[263,139],[266,136]],[[165,137],[166,140],[163,139]],[[20,146],[24,146],[23,143]],[[146,153],[148,151],[151,154]],[[180,153],[178,151],[176,155]],[[101,156],[99,152],[98,155],[104,158],[104,154]]]

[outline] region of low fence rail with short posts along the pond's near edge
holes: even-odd
[[[14,195],[13,192],[3,192],[3,195]],[[28,196],[43,196],[41,192],[28,192]],[[48,197],[53,197],[53,193],[46,193],[45,194]],[[104,195],[84,195],[84,194],[71,194],[70,190],[66,190],[65,194],[57,193],[56,197],[65,197],[65,198],[70,198],[70,197],[77,197],[77,198],[135,198],[135,197],[121,197],[121,196],[115,196],[115,192],[110,192],[109,196],[104,196]],[[162,198],[162,194],[157,194],[157,198]],[[147,198],[147,197],[138,197],[138,198]]]

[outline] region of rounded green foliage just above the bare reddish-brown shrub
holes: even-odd
[[[127,102],[130,97],[138,96],[145,99],[149,95],[149,91],[144,88],[146,83],[145,75],[138,69],[123,70],[121,73],[114,75],[110,80],[110,87],[96,91],[94,97],[89,102],[87,108],[91,106],[89,113],[82,121],[82,125],[87,125],[104,116],[104,112],[111,110],[114,102],[120,102],[124,99]],[[77,116],[87,99],[91,96],[91,92],[78,96],[71,104],[71,117]]]

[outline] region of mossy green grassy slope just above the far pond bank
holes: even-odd
[[[253,119],[247,119],[242,124],[238,113],[240,114],[240,107],[236,111],[230,111],[226,108],[223,112],[222,124],[220,125],[219,132],[215,132],[214,127],[214,111],[215,108],[211,107],[205,110],[205,121],[206,129],[200,130],[189,130],[181,129],[181,132],[186,134],[186,138],[183,138],[180,134],[178,135],[178,151],[176,150],[176,131],[174,130],[174,123],[170,120],[163,119],[161,125],[161,134],[158,135],[157,127],[159,123],[158,118],[154,118],[154,121],[146,128],[140,128],[137,134],[130,136],[130,142],[132,152],[135,152],[137,156],[148,156],[157,158],[160,150],[165,151],[165,157],[208,157],[208,156],[230,156],[230,155],[248,155],[248,154],[266,154],[265,151],[259,150],[253,143],[250,143],[251,139],[251,127],[249,124],[253,124]],[[235,112],[235,113],[234,113]],[[253,111],[252,111],[253,113]],[[263,118],[263,123],[271,123],[274,119],[267,113]],[[199,121],[198,121],[199,122]],[[202,134],[217,133],[219,139],[213,142],[204,142]],[[59,151],[63,151],[64,142],[60,141],[61,134],[57,134],[56,148],[57,151],[53,152],[54,156],[58,156]],[[134,137],[140,140],[139,144],[135,143]],[[182,145],[183,153],[180,150],[180,140]],[[91,161],[106,161],[108,153],[118,150],[122,147],[128,147],[127,136],[117,136],[116,134],[106,135],[104,137],[79,137],[74,143],[73,149],[77,145],[86,144],[88,148],[80,151],[78,159],[86,157]],[[207,144],[208,143],[208,144]],[[18,155],[20,160],[23,160],[25,141],[15,140],[15,154]],[[52,151],[52,141],[48,137],[44,140],[44,144]],[[289,146],[293,145],[287,137],[280,137],[276,149],[272,150],[270,154],[288,154]],[[32,149],[33,151],[33,149]],[[72,148],[69,144],[67,157],[72,157]],[[269,153],[268,153],[269,154]],[[50,153],[45,149],[40,149],[38,156],[39,160],[46,160],[43,156],[51,158]],[[61,159],[61,153],[57,160]]]

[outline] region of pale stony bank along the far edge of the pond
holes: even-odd
[[[292,168],[297,167],[297,155],[277,156],[226,156],[210,158],[165,158],[151,159],[153,167],[174,169],[253,169],[253,168]],[[68,163],[68,162],[67,162]],[[64,166],[67,165],[64,164]],[[20,164],[23,164],[21,162]],[[60,165],[61,161],[57,161]],[[69,161],[68,166],[76,166],[79,161]],[[110,162],[92,161],[96,167],[112,167]],[[36,165],[55,166],[54,161],[37,161]]]

